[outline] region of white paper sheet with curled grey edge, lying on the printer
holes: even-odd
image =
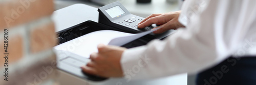
[[[129,34],[111,30],[96,31],[57,45],[54,49],[58,51],[57,55],[65,54],[66,51],[69,51],[84,56],[85,58],[90,58],[91,53],[98,52],[98,44],[106,45],[109,43],[109,45],[121,46],[150,34],[155,30],[139,34]]]

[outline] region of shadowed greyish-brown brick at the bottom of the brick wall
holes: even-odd
[[[1,76],[0,84],[4,85],[20,85],[20,84],[39,84],[44,83],[44,81],[55,78],[57,75],[56,71],[56,56],[45,55],[44,59],[34,60],[32,62],[36,62],[33,64],[20,64],[19,67],[16,67],[16,71],[9,72],[8,80],[4,80]],[[26,68],[26,69],[23,69]],[[12,69],[10,69],[12,70]],[[35,79],[40,80],[34,81]]]

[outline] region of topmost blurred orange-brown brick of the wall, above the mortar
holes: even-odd
[[[20,1],[34,1],[29,4]],[[10,0],[0,3],[0,30],[23,24],[44,16],[49,16],[54,11],[53,0]],[[18,15],[15,17],[15,14]],[[13,17],[12,17],[13,16]],[[5,20],[12,20],[8,22]]]

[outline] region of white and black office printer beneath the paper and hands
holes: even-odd
[[[75,6],[73,6],[75,8]],[[71,9],[71,8],[70,8]],[[89,9],[88,9],[89,10]],[[62,11],[62,9],[58,10]],[[105,5],[103,7],[100,7],[96,11],[91,11],[92,13],[86,13],[86,16],[88,17],[80,17],[82,19],[79,19],[78,21],[84,20],[82,23],[75,24],[73,21],[70,21],[70,23],[73,26],[68,27],[67,29],[63,29],[63,22],[61,22],[60,17],[65,18],[65,16],[54,16],[58,15],[57,13],[54,13],[53,20],[55,21],[56,25],[56,33],[57,33],[57,39],[58,44],[61,45],[65,42],[71,41],[73,39],[79,38],[83,35],[90,34],[92,32],[96,31],[102,31],[102,30],[112,30],[112,31],[119,31],[124,33],[141,33],[148,30],[153,29],[154,27],[157,27],[156,24],[152,24],[151,26],[147,26],[144,29],[138,29],[137,24],[141,20],[143,20],[143,17],[139,17],[136,15],[131,14],[129,11],[127,11],[119,2],[114,2],[109,5]],[[66,15],[69,15],[67,13]],[[74,16],[73,14],[72,16]],[[98,16],[96,16],[98,15]],[[61,24],[58,24],[56,22],[61,22]],[[59,29],[61,28],[62,29]],[[67,27],[67,26],[66,26]],[[138,38],[132,42],[129,42],[127,44],[122,45],[122,47],[126,48],[133,48],[137,46],[146,45],[148,42],[150,42],[153,39],[164,39],[168,35],[174,33],[174,30],[167,31],[163,34],[148,34],[141,38]],[[68,52],[68,51],[67,51]],[[79,68],[81,65],[86,65],[87,62],[90,61],[88,58],[84,58],[83,56],[77,55],[75,53],[67,53],[66,55],[60,55],[59,53],[56,53],[57,55],[57,68],[63,72],[66,72],[68,74],[71,74],[73,76],[79,77],[81,79],[86,79],[90,81],[102,81],[106,80],[108,78],[99,77],[96,75],[90,75],[87,73],[84,73]]]

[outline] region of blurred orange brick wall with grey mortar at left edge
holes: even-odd
[[[54,82],[56,56],[52,47],[57,42],[53,11],[53,0],[0,0],[1,85]],[[6,68],[8,81],[4,80]]]

